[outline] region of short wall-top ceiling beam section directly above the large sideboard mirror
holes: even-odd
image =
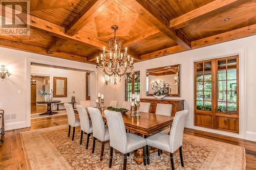
[[[141,60],[144,61],[144,60],[155,59],[155,58],[167,56],[170,54],[180,53],[184,51],[185,51],[184,48],[180,45],[172,46],[172,47],[165,48],[163,50],[141,55]]]

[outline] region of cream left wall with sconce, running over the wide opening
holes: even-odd
[[[7,118],[13,117],[13,119],[6,119],[6,130],[30,126],[31,62],[95,70],[95,65],[92,64],[0,47],[0,65],[6,65],[12,74],[9,79],[0,82],[0,109],[5,110]]]

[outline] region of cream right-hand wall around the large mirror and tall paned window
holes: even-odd
[[[186,127],[209,132],[245,138],[256,141],[256,36],[207,46],[179,54],[169,55],[153,60],[135,63],[135,69],[141,74],[141,96],[146,97],[146,69],[160,66],[181,64],[181,96],[184,99],[184,109],[189,109]],[[194,61],[216,58],[228,55],[240,55],[240,134],[228,133],[194,126]]]

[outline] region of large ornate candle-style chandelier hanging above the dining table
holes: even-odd
[[[98,69],[101,68],[103,78],[110,78],[113,75],[114,84],[116,85],[117,76],[120,78],[124,76],[126,79],[127,71],[133,71],[133,58],[130,58],[127,53],[127,47],[123,50],[121,40],[116,38],[118,26],[112,26],[111,29],[115,31],[115,35],[114,38],[109,40],[109,52],[105,52],[105,47],[103,47],[100,59],[97,56],[96,74],[98,74]],[[110,80],[108,81],[110,83]]]

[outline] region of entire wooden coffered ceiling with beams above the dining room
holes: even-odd
[[[95,63],[117,25],[139,62],[256,35],[256,1],[30,0],[30,8],[30,35],[0,35],[0,46]]]

